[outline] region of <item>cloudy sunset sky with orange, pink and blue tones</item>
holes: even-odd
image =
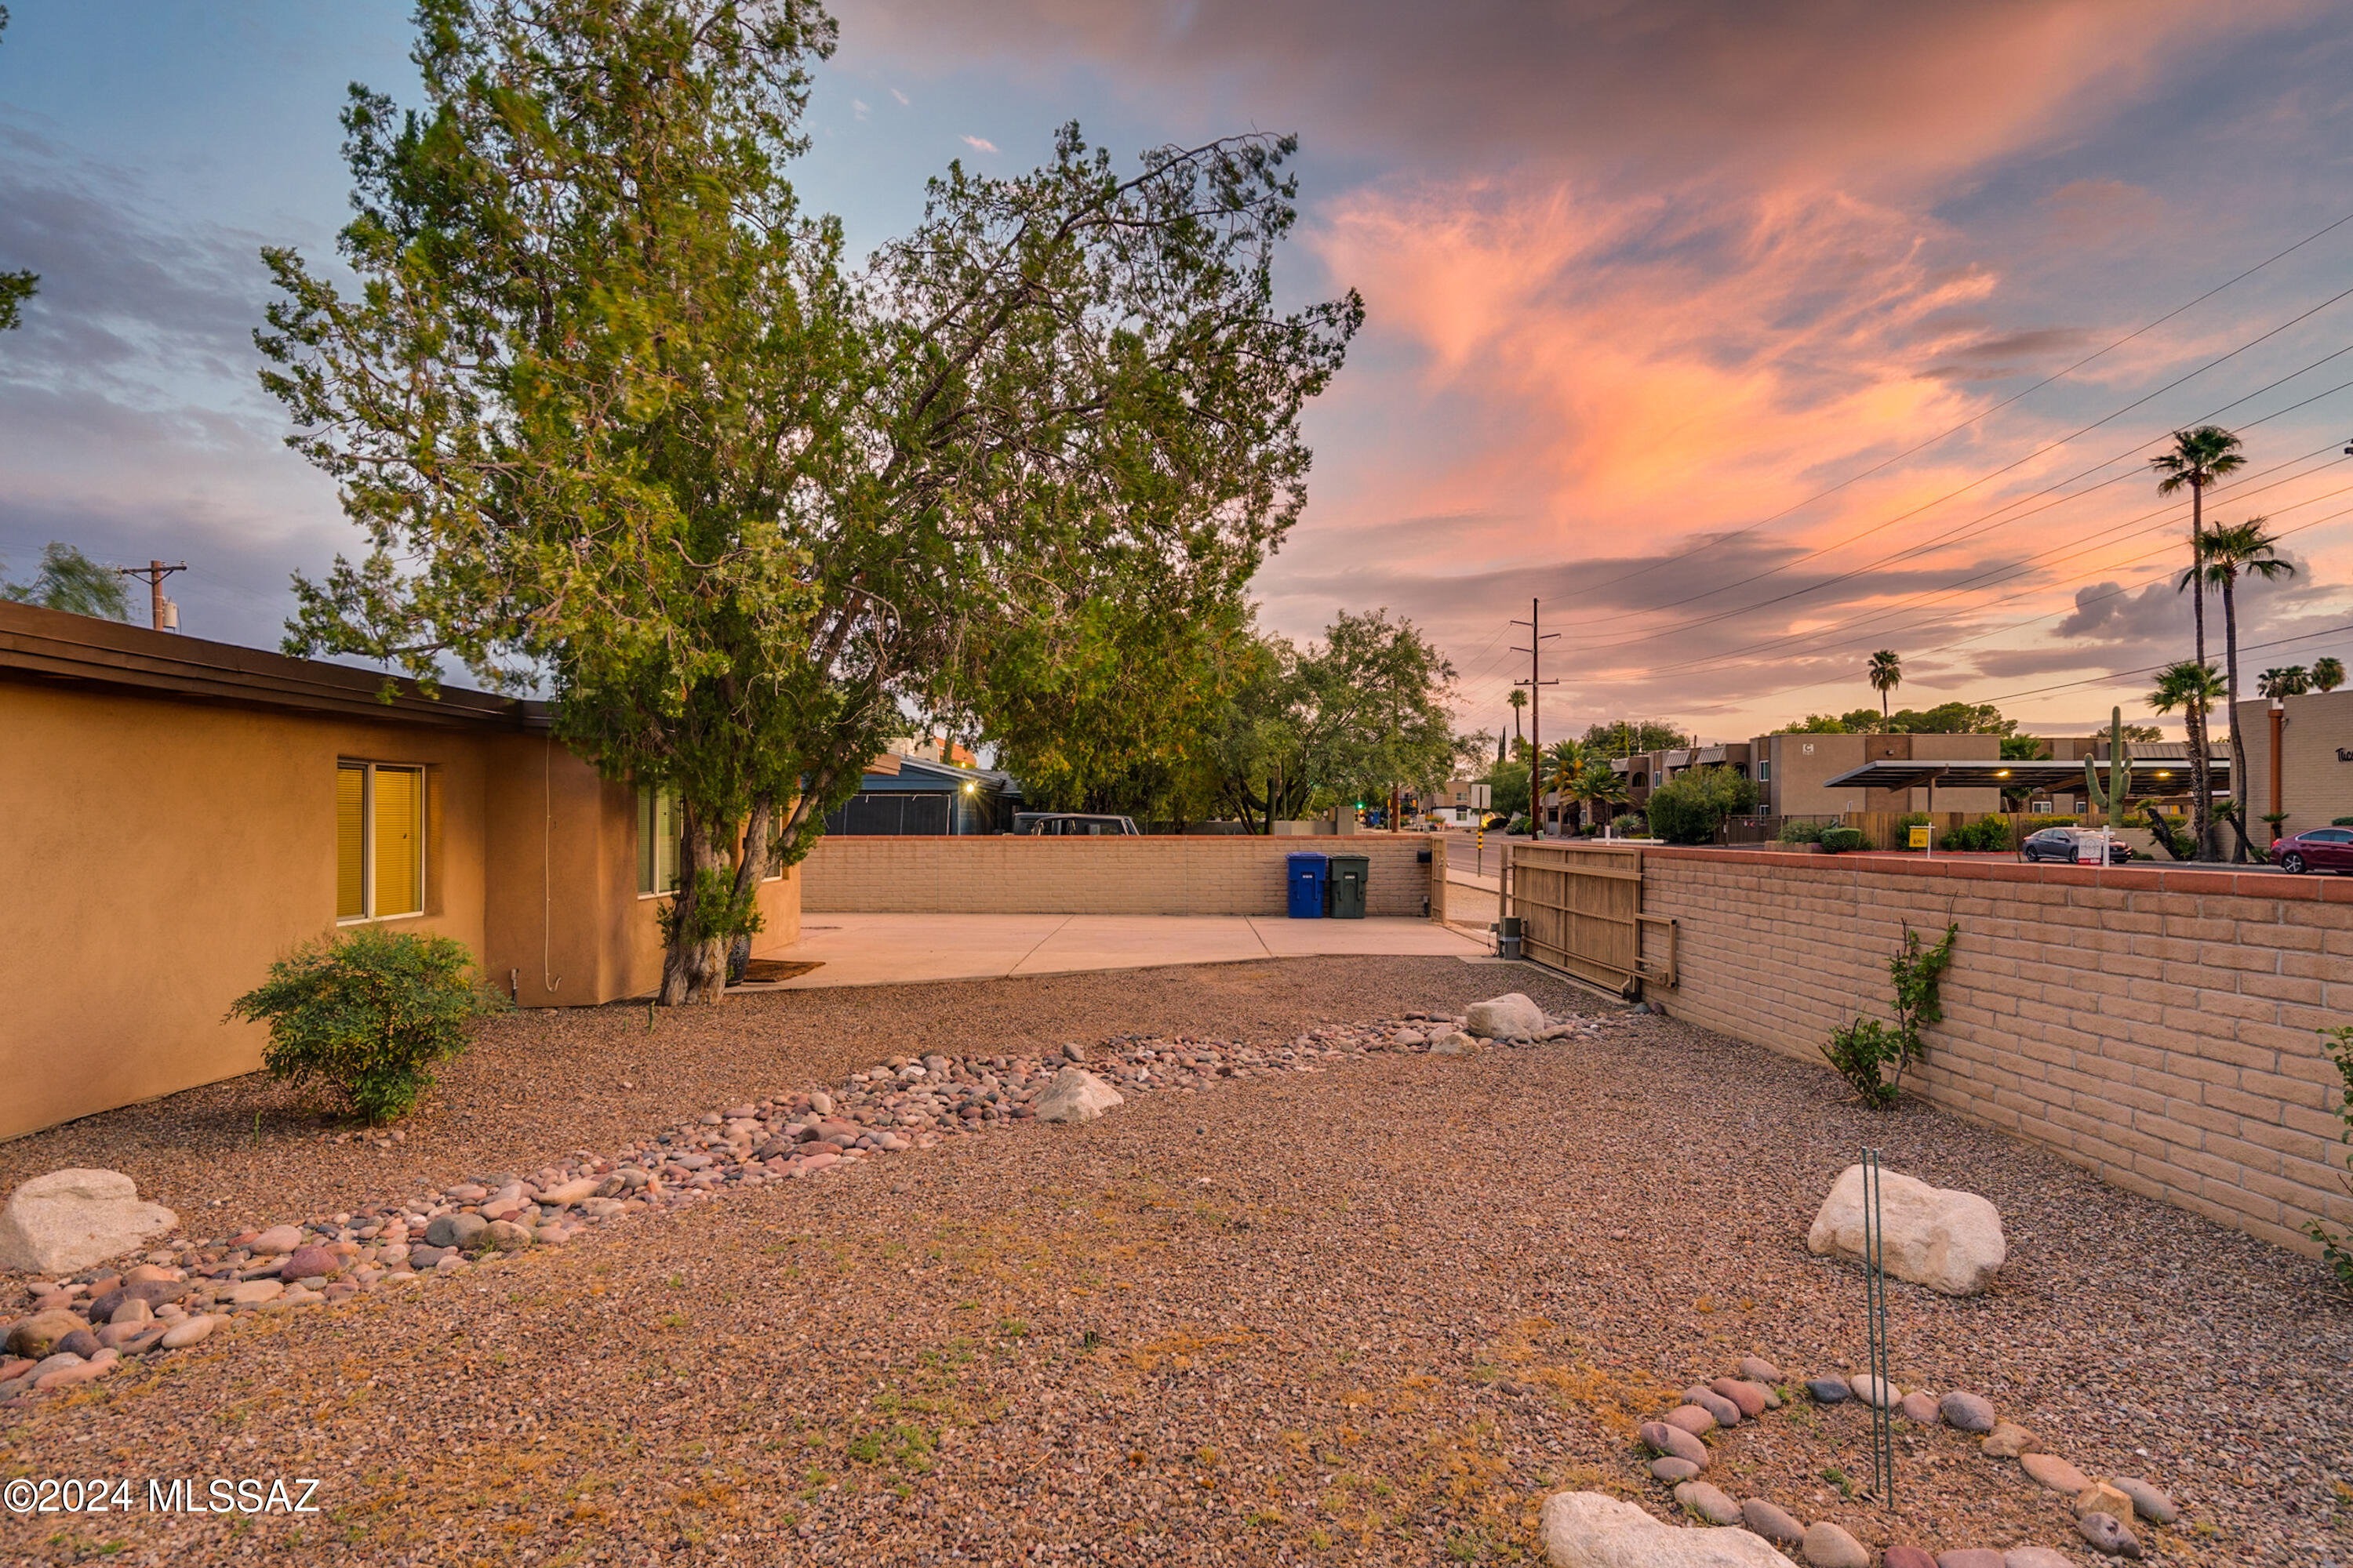
[[[344,85],[414,101],[407,9],[12,9],[0,268],[42,294],[0,339],[5,571],[49,538],[186,557],[184,628],[271,646],[287,574],[358,536],[254,383],[254,252],[329,249]],[[2268,515],[2299,564],[2245,595],[2247,675],[2353,658],[2344,5],[838,16],[795,183],[859,252],[948,160],[1026,169],[1064,120],[1120,155],[1299,132],[1282,287],[1355,287],[1367,327],[1311,411],[1313,501],[1264,618],[1412,616],[1466,726],[1504,722],[1532,597],[1562,632],[1546,733],[1746,738],[1875,703],[1880,646],[1899,703],[1995,701],[2045,733],[2146,717],[2141,670],[2188,656],[2186,501],[2146,456],[2202,421],[2249,454],[2209,515]]]

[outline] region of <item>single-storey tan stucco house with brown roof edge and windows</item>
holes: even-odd
[[[666,802],[536,703],[0,602],[0,1138],[252,1072],[221,1023],[271,959],[384,922],[461,940],[525,1006],[661,976]],[[800,938],[762,884],[760,952]]]

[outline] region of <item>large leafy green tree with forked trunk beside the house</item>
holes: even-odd
[[[374,545],[289,651],[544,689],[675,790],[671,1004],[908,708],[986,724],[995,651],[1111,585],[1235,595],[1362,313],[1273,310],[1261,136],[1122,176],[1073,127],[847,270],[784,179],[831,47],[800,0],[421,0],[426,108],[344,115],[360,289],[266,252],[264,378]]]

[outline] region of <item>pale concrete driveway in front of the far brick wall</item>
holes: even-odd
[[[1482,952],[1485,945],[1461,931],[1400,917],[805,914],[800,943],[760,957],[821,964],[824,969],[776,983],[779,990],[814,990],[1318,954],[1478,957]]]

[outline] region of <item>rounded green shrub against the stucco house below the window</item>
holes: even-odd
[[[433,1086],[433,1063],[466,1048],[468,1018],[506,1006],[471,971],[447,936],[355,926],[271,964],[228,1018],[271,1025],[261,1065],[273,1079],[325,1079],[353,1112],[386,1121]]]

